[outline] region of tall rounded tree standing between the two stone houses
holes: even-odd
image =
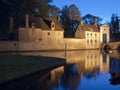
[[[74,5],[64,6],[61,10],[62,25],[65,37],[74,37],[75,30],[79,24],[80,11]]]

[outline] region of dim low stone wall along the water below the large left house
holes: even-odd
[[[43,44],[41,41],[18,42],[0,41],[0,51],[39,51],[39,50],[64,50],[64,44]]]

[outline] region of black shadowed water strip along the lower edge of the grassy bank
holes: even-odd
[[[36,82],[39,80],[39,90],[50,90],[49,85],[45,85],[45,80],[49,76],[50,71],[63,65],[56,65],[51,68],[38,71],[31,75],[17,78],[5,83],[0,83],[0,90],[38,90],[35,89]],[[44,87],[44,88],[43,88]]]

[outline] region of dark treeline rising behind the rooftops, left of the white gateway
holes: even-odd
[[[85,24],[93,24],[94,18],[98,21],[98,26],[102,19],[98,16],[87,14],[81,17],[81,12],[74,4],[64,6],[61,10],[52,5],[52,0],[0,0],[0,37],[9,36],[10,16],[14,18],[15,27],[18,27],[25,14],[35,17],[61,17],[61,23],[65,30],[65,37],[74,37],[75,30],[80,19]]]

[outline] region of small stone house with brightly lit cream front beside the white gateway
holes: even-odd
[[[100,47],[100,31],[97,27],[97,21],[94,20],[94,24],[83,24],[82,19],[75,32],[75,37],[85,39],[85,46],[87,49]]]

